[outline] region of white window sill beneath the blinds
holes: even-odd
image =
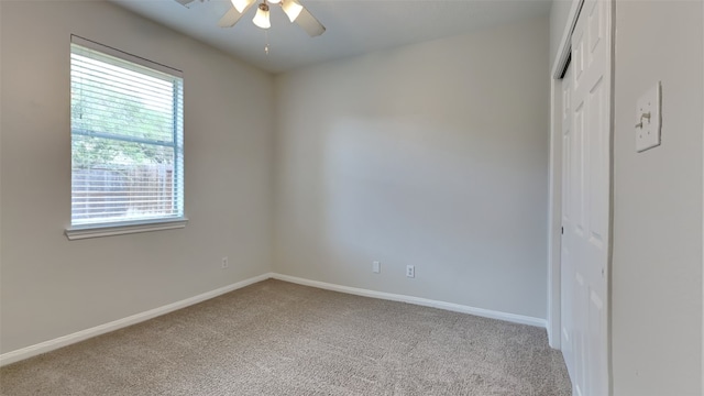
[[[88,238],[123,235],[138,232],[175,230],[185,228],[188,219],[186,218],[176,218],[168,220],[143,220],[107,224],[84,224],[70,227],[66,229],[65,233],[66,238],[68,238],[69,241],[74,241]]]

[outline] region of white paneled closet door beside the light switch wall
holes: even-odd
[[[585,1],[572,33],[564,132],[565,360],[578,396],[608,395],[609,0]]]

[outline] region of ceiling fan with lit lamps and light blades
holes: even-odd
[[[176,0],[180,4],[188,7],[190,3],[196,2],[198,0]],[[204,2],[205,0],[199,0]],[[252,22],[255,25],[262,29],[271,28],[268,13],[270,8],[272,6],[279,6],[282,10],[286,13],[288,19],[293,22],[296,22],[300,28],[302,28],[308,35],[311,37],[319,36],[326,31],[326,26],[323,26],[318,20],[297,0],[230,0],[232,2],[232,8],[228,11],[218,22],[220,28],[232,28],[235,23],[244,15],[252,6],[261,1],[256,9],[256,14]]]

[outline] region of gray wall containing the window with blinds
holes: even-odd
[[[0,352],[271,270],[272,76],[102,1],[0,9]],[[185,229],[64,237],[72,33],[184,70]]]

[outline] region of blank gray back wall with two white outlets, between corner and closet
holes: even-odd
[[[546,318],[548,31],[277,76],[275,270]]]

